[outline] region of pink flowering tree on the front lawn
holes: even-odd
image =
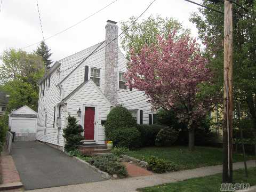
[[[155,109],[173,109],[187,125],[189,150],[194,150],[195,130],[213,102],[204,94],[212,72],[195,39],[175,37],[175,32],[168,39],[158,37],[157,44],[143,46],[140,53],[131,50],[127,85],[145,91]]]

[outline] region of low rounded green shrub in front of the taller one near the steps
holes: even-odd
[[[118,147],[138,148],[141,146],[140,132],[137,127],[115,129],[109,133],[108,139]]]

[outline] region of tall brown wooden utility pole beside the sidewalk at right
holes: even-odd
[[[224,94],[222,182],[233,180],[233,14],[232,3],[224,1]]]

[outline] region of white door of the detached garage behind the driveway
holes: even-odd
[[[36,119],[12,118],[11,130],[17,133],[36,133]]]

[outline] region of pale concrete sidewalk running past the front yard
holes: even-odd
[[[242,169],[243,162],[234,163],[234,170]],[[248,161],[248,167],[255,166],[255,161]],[[102,182],[84,183],[79,185],[70,185],[54,187],[39,190],[30,190],[29,192],[133,192],[138,188],[160,185],[163,183],[177,182],[185,179],[204,177],[207,175],[222,172],[222,165],[201,167],[193,170],[171,172],[164,174],[154,174],[142,177],[106,180]]]

